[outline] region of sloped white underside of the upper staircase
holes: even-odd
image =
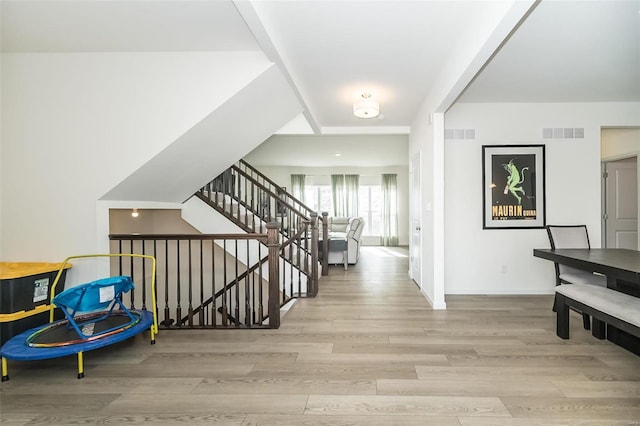
[[[270,66],[102,197],[182,202],[301,110]]]

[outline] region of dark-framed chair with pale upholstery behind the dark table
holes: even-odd
[[[547,225],[547,235],[551,249],[563,248],[591,248],[589,243],[589,233],[586,225]],[[560,284],[583,284],[597,285],[600,287],[607,286],[607,277],[596,275],[592,272],[583,271],[581,269],[572,268],[567,265],[554,263],[556,268],[556,285]],[[555,311],[555,303],[553,310]],[[574,309],[582,314],[582,322],[585,330],[591,328],[589,315]]]

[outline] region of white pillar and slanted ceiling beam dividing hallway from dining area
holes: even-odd
[[[498,51],[522,17],[534,7],[533,0],[493,2],[482,19],[469,27],[441,66],[441,72],[413,122],[409,158],[422,157],[420,289],[434,309],[446,309],[444,244],[444,113],[471,84],[477,73]],[[411,258],[414,252],[411,248]],[[413,262],[413,260],[412,260]],[[413,266],[411,266],[413,270]],[[414,280],[416,278],[414,277]]]

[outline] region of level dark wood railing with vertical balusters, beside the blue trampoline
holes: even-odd
[[[280,308],[292,298],[276,224],[263,234],[109,238],[112,253],[156,258],[160,328],[278,328]],[[112,268],[120,275],[145,275],[133,263]]]

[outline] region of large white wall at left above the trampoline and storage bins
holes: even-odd
[[[261,52],[3,54],[3,260],[96,252],[96,201],[268,66]]]

